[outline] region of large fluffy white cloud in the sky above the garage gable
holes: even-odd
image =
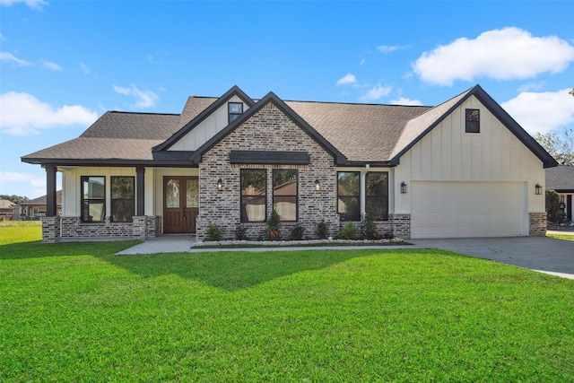
[[[507,27],[424,52],[413,70],[426,83],[452,85],[475,77],[510,80],[556,74],[573,61],[574,47],[567,41],[556,36],[533,37],[526,30]]]

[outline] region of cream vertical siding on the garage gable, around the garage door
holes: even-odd
[[[465,109],[480,109],[480,133],[465,133]],[[520,181],[526,183],[527,209],[544,212],[544,167],[506,126],[474,97],[455,109],[400,159],[395,170],[395,213],[410,213],[402,181]]]

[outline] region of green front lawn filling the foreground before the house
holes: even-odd
[[[574,380],[572,280],[439,250],[116,257],[136,242],[11,229],[0,381]]]

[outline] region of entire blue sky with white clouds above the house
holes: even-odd
[[[476,83],[534,135],[574,126],[571,1],[0,0],[0,194],[106,110],[253,98],[437,105]]]

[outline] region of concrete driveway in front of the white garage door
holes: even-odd
[[[574,239],[574,236],[572,237]],[[574,279],[574,240],[548,237],[409,239],[420,248],[443,248]]]

